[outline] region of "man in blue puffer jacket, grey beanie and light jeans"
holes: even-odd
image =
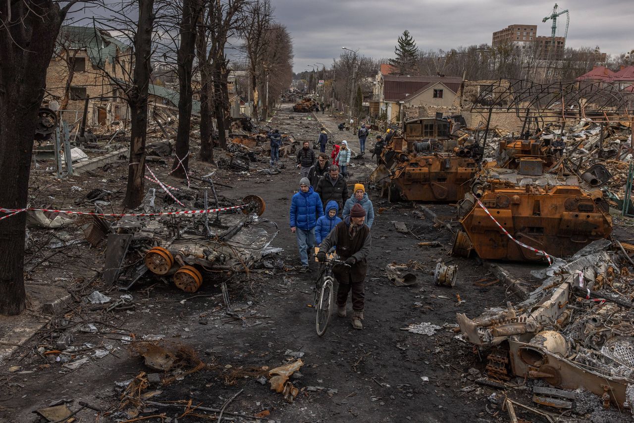
[[[299,181],[299,192],[290,200],[290,230],[297,236],[302,272],[308,271],[308,259],[315,244],[315,226],[321,216],[321,198],[313,191],[311,181],[302,178]]]

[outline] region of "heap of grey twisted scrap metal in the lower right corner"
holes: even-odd
[[[460,332],[487,352],[486,369],[494,384],[508,386],[512,377],[540,379],[557,388],[595,393],[605,408],[632,410],[633,263],[618,242],[598,240],[567,261],[557,259],[533,271],[543,281],[526,301],[487,308],[473,319],[458,314]],[[572,406],[569,400],[539,395],[534,401]]]

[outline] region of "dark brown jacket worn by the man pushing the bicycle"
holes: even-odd
[[[370,228],[363,225],[354,238],[350,237],[350,217],[340,222],[330,231],[328,236],[321,242],[320,252],[328,252],[330,247],[336,245],[337,256],[346,260],[348,257],[356,259],[356,263],[351,268],[344,266],[334,266],[332,272],[335,274],[339,283],[358,283],[365,280],[368,273],[368,255],[370,254],[370,246],[372,240],[370,238]]]

